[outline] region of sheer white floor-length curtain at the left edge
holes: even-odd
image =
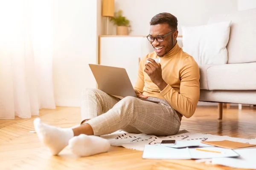
[[[0,0],[0,119],[55,109],[52,0]]]

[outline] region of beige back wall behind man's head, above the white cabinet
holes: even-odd
[[[115,0],[115,11],[119,9],[131,20],[131,35],[148,35],[151,17],[160,12],[177,17],[181,35],[180,26],[206,24],[211,15],[237,11],[237,0]],[[110,33],[116,34],[113,25]]]

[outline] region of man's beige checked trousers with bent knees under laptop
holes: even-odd
[[[128,133],[174,135],[180,129],[180,118],[165,100],[143,101],[131,96],[122,100],[99,89],[85,89],[81,96],[81,118],[93,128],[94,135],[117,130]]]

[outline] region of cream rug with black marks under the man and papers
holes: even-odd
[[[242,143],[256,144],[255,139],[232,138],[229,136],[218,136],[203,133],[189,132],[180,130],[176,135],[171,136],[155,136],[146,134],[125,133],[124,131],[116,131],[109,135],[102,135],[110,141],[112,146],[122,146],[132,150],[144,150],[145,144],[159,144],[162,140],[185,141],[185,140],[201,140],[201,141],[238,141]]]

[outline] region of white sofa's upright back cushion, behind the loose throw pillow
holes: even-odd
[[[210,17],[208,23],[230,21],[227,63],[256,62],[256,9]]]

